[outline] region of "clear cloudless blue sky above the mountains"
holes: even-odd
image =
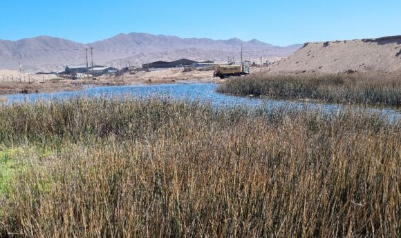
[[[90,43],[119,33],[306,41],[401,34],[401,0],[0,0],[0,39]]]

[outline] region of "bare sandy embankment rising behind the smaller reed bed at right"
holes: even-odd
[[[271,72],[401,72],[401,36],[306,43]]]

